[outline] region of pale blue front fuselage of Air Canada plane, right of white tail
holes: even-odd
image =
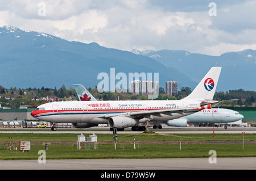
[[[234,121],[242,120],[243,115],[237,111],[217,108],[205,109],[192,115],[184,116],[179,119],[168,120],[167,124],[172,127],[187,127],[187,123],[205,123],[205,124],[225,124],[225,129],[228,128],[226,124]]]

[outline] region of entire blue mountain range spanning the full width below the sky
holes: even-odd
[[[28,88],[54,88],[79,83],[95,87],[98,74],[110,68],[115,75],[159,73],[159,87],[177,81],[181,87],[194,89],[212,66],[222,66],[217,90],[256,90],[255,50],[207,56],[183,50],[147,50],[132,52],[106,48],[97,43],[67,41],[43,32],[23,31],[12,26],[0,28],[0,85]],[[115,79],[115,83],[119,82]]]

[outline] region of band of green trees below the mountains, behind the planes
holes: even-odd
[[[89,87],[87,89],[94,98],[98,100],[148,100],[147,94],[134,95],[132,93],[118,93],[118,92],[98,92],[97,86]],[[159,88],[159,96],[156,100],[180,100],[184,96],[188,96],[191,93],[190,87],[181,87],[177,94],[167,95],[162,87]],[[7,89],[0,86],[0,104],[2,107],[19,108],[21,105],[28,105],[31,108],[36,108],[40,104],[47,103],[48,96],[56,96],[56,101],[62,100],[79,100],[77,98],[76,90],[72,87],[66,89],[63,85],[59,89],[48,89],[47,87],[39,88],[27,88],[17,89],[11,87]],[[255,91],[245,91],[243,89],[229,90],[226,92],[219,91],[214,94],[214,100],[229,100],[240,99],[237,102],[227,103],[227,106],[255,106]]]

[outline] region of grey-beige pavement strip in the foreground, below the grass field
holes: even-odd
[[[0,160],[0,170],[255,170],[255,157]]]

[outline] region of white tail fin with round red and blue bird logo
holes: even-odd
[[[184,98],[184,100],[212,100],[217,87],[218,78],[220,77],[220,72],[221,67],[211,68],[199,85],[196,86],[195,90]]]

